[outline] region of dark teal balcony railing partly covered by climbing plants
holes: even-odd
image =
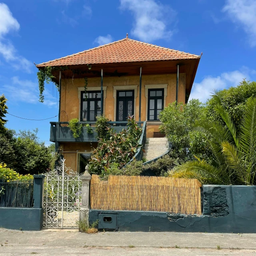
[[[146,122],[137,122],[140,126],[146,126]],[[78,122],[78,124],[90,124],[93,134],[87,133],[87,128],[82,127],[82,132],[79,138],[74,138],[73,134],[68,127],[68,122],[50,122],[50,141],[51,142],[97,142],[98,134],[95,131],[96,122]],[[128,122],[108,122],[111,128],[114,128],[116,132],[120,132],[127,128]],[[145,130],[145,128],[144,128]]]

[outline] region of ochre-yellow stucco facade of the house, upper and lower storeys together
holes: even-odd
[[[147,109],[147,88],[165,88],[165,106],[176,100],[176,74],[163,74],[163,75],[148,75],[142,76],[142,91],[141,91],[141,121],[146,120],[146,109]],[[105,98],[104,114],[112,121],[115,121],[115,98],[114,90],[127,90],[127,86],[136,88],[137,95],[136,107],[134,108],[135,119],[138,121],[139,118],[139,76],[122,76],[122,77],[106,77],[103,78],[103,87]],[[178,102],[185,102],[185,90],[186,90],[186,74],[182,73],[179,75],[179,90],[178,90]],[[101,78],[88,78],[88,91],[90,88],[100,88]],[[118,86],[118,87],[117,87]],[[60,122],[70,121],[72,118],[78,118],[80,120],[80,99],[79,95],[84,88],[84,79],[62,79],[61,82],[61,107],[60,107]],[[153,137],[154,132],[158,132],[160,122],[150,121],[147,122],[147,137]],[[66,165],[70,166],[72,170],[77,170],[78,163],[78,152],[84,152],[85,150],[90,151],[96,147],[96,143],[90,144],[89,142],[66,142],[61,143],[60,148],[63,150],[64,158],[66,159]],[[87,152],[88,152],[87,151]]]

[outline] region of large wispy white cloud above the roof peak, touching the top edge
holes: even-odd
[[[167,29],[167,20],[176,12],[155,0],[120,0],[121,10],[130,10],[135,18],[132,34],[142,41],[151,42],[170,38],[173,31]]]

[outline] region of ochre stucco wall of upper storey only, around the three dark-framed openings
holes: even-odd
[[[178,102],[185,102],[185,74],[179,77]],[[142,76],[141,92],[141,121],[146,118],[146,97],[145,85],[150,84],[168,84],[166,106],[176,100],[176,74]],[[113,86],[138,86],[136,98],[136,120],[139,117],[139,76],[107,77],[103,78],[103,86],[107,87],[105,101],[105,115],[109,120],[114,121],[114,97]],[[88,87],[100,86],[100,78],[88,78]],[[84,79],[62,79],[61,91],[61,115],[60,121],[69,121],[72,118],[79,117],[78,87],[84,87]]]

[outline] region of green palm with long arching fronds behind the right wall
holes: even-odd
[[[256,172],[256,97],[246,103],[246,111],[238,131],[221,105],[216,93],[213,96],[218,103],[216,111],[226,125],[220,122],[203,121],[195,128],[203,132],[213,153],[212,164],[196,157],[169,170],[169,176],[175,178],[197,178],[202,184],[240,184],[253,185]]]

